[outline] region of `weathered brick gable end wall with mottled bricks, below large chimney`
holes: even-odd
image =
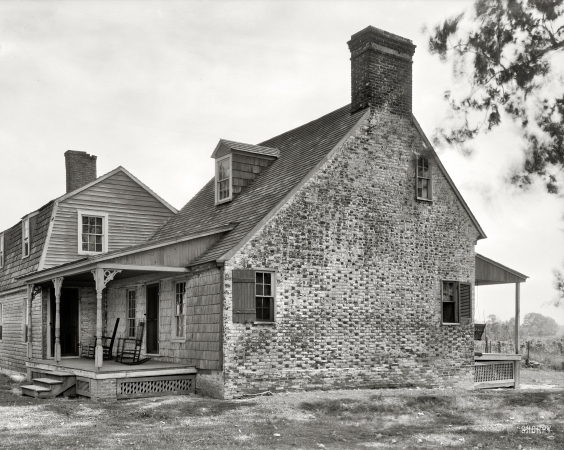
[[[225,266],[225,397],[323,387],[471,386],[473,326],[441,280],[474,281],[478,231],[436,162],[415,200],[411,120],[373,112]],[[232,322],[234,268],[277,270],[276,323]]]

